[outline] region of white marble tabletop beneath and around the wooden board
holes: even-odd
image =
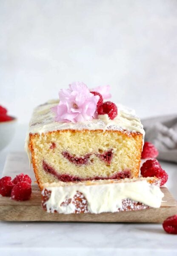
[[[26,160],[20,161],[25,126],[19,126],[13,141],[0,152],[0,169],[29,173]],[[20,164],[17,167],[17,158]],[[21,156],[24,152],[21,153]],[[13,160],[14,159],[14,160]],[[23,158],[24,159],[24,158]],[[177,164],[161,162],[169,174],[168,188],[177,198]],[[2,175],[2,171],[0,173]],[[31,173],[33,175],[33,173]],[[34,177],[34,176],[33,176]],[[0,256],[176,256],[177,236],[166,234],[161,224],[50,223],[0,221]]]

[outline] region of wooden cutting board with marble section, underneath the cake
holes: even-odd
[[[29,169],[28,159],[24,153],[13,153],[8,156],[3,176],[14,177],[20,172],[29,174],[34,181],[34,174]],[[34,184],[34,183],[33,183]],[[41,207],[41,194],[37,185],[32,185],[29,201],[14,201],[0,196],[0,220],[2,221],[80,221],[80,222],[154,222],[161,223],[168,216],[177,214],[177,201],[171,196],[166,187],[161,188],[164,193],[160,208],[128,211],[118,213],[81,213],[59,214],[46,213]]]

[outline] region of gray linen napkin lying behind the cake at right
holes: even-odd
[[[159,150],[158,159],[177,162],[177,115],[141,120],[149,141]]]

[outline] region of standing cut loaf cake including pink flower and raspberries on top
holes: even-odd
[[[143,125],[133,110],[100,92],[73,83],[60,91],[60,101],[34,109],[26,150],[40,187],[139,176]]]

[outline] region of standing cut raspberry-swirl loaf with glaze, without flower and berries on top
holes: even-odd
[[[38,106],[30,122],[26,147],[38,184],[138,177],[144,130],[132,110],[117,105],[114,120],[66,123],[54,121],[56,104]]]

